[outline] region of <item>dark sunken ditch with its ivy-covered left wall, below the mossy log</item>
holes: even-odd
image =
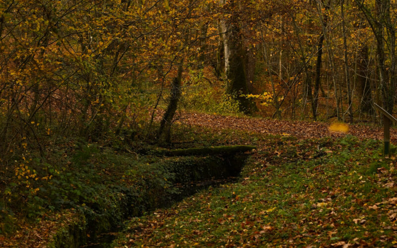
[[[178,157],[162,157],[154,163],[141,165],[139,170],[127,172],[128,176],[132,173],[133,177],[124,186],[112,185],[113,193],[107,195],[106,205],[82,208],[74,221],[57,231],[50,247],[79,247],[87,241],[93,242],[99,234],[116,228],[130,216],[170,206],[194,193],[192,187],[185,187],[187,185],[237,176],[248,156],[244,151],[254,148],[233,146],[230,150],[228,147],[170,150],[167,155]],[[198,155],[198,151],[204,150],[207,151],[201,153],[204,156],[181,157],[185,154]]]

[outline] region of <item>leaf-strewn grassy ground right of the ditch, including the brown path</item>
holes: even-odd
[[[132,218],[113,246],[396,247],[397,160],[382,156],[381,128],[205,114],[178,123],[201,135],[190,142],[257,152],[239,182]]]

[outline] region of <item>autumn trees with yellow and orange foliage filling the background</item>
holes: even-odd
[[[2,1],[1,151],[50,134],[139,131],[168,103],[159,137],[178,105],[375,121],[373,102],[390,113],[396,102],[395,5]]]

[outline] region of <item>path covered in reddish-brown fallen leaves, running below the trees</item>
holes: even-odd
[[[213,129],[236,129],[255,131],[264,134],[287,134],[297,138],[343,137],[348,134],[360,139],[383,139],[382,126],[348,124],[347,133],[331,132],[330,124],[308,121],[280,121],[249,117],[182,113],[180,121],[184,124],[210,127]],[[391,141],[397,141],[397,129],[391,128]]]

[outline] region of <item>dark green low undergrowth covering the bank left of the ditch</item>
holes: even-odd
[[[179,139],[181,132],[184,140]],[[205,157],[166,158],[157,151],[164,147],[132,135],[124,130],[102,143],[65,139],[47,147],[46,157],[34,149],[13,151],[0,183],[0,237],[11,237],[21,225],[51,220],[67,209],[107,229],[126,216],[177,200],[183,194],[174,185],[177,175],[189,174],[190,165],[218,163]],[[177,128],[173,137],[165,148],[211,146],[223,139],[187,126]]]

